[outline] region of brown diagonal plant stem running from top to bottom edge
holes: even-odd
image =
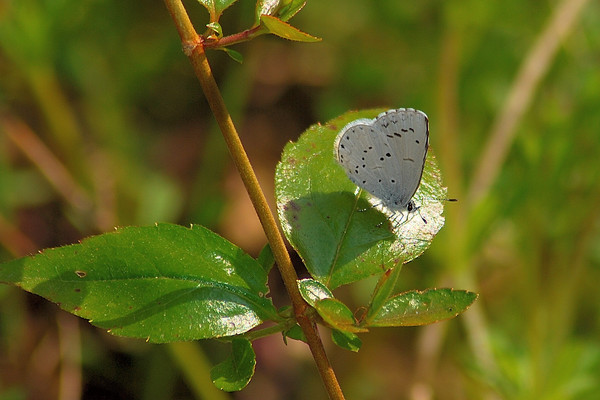
[[[267,240],[273,250],[273,255],[282,276],[286,290],[294,307],[296,321],[302,328],[310,351],[315,359],[321,379],[331,399],[343,399],[341,387],[337,381],[331,364],[325,354],[325,348],[319,337],[316,324],[307,316],[308,304],[302,299],[298,286],[296,284],[298,276],[293,268],[283,237],[279,233],[277,223],[273,213],[269,209],[267,200],[260,188],[256,174],[252,169],[250,160],[244,150],[242,142],[237,134],[233,121],[227,111],[223,97],[217,87],[217,83],[212,75],[210,65],[204,52],[203,39],[196,33],[192,22],[190,21],[181,0],[165,0],[165,5],[173,18],[177,27],[179,36],[183,43],[186,55],[190,58],[194,72],[200,84],[204,95],[208,100],[211,110],[223,133],[225,142],[233,162],[240,173],[242,181],[248,191],[250,200],[258,214],[260,223],[263,226]]]

